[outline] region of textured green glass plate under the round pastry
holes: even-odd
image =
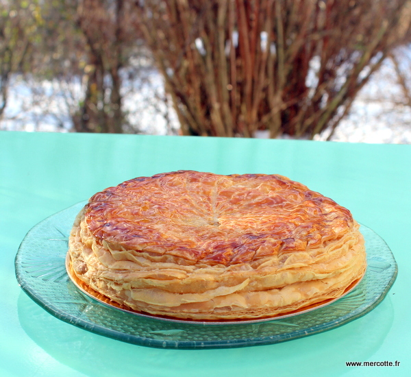
[[[192,324],[140,317],[101,304],[70,280],[65,261],[73,221],[81,202],[48,217],[30,230],[18,250],[16,276],[21,288],[46,311],[68,322],[128,343],[158,348],[233,348],[279,343],[331,330],[373,310],[397,277],[388,245],[361,226],[368,267],[353,291],[310,311],[251,324]]]

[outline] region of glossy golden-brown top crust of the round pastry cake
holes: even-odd
[[[349,210],[280,175],[197,171],[106,189],[90,199],[86,221],[114,248],[225,266],[310,250],[353,226]]]

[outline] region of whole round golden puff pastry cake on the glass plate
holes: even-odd
[[[260,319],[343,295],[366,269],[346,208],[281,175],[162,173],[95,194],[70,273],[134,311]]]

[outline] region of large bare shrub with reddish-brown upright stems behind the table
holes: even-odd
[[[332,130],[410,27],[406,0],[144,0],[183,134]]]

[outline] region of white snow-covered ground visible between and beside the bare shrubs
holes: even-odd
[[[14,78],[10,88],[10,100],[0,130],[23,130],[28,132],[69,132],[70,112],[81,101],[81,83],[43,82],[36,89]],[[69,88],[70,90],[67,90]],[[125,88],[125,108],[132,114],[130,123],[147,134],[170,134],[164,113],[164,103],[152,94],[162,96],[162,80],[151,77],[139,90]],[[67,94],[69,93],[69,94]],[[389,62],[375,73],[364,86],[346,119],[336,128],[332,141],[351,143],[398,143],[411,144],[411,108],[396,104],[401,99],[401,90],[395,82],[393,66]],[[169,112],[171,125],[177,124],[173,111]],[[316,136],[326,140],[328,133]]]

